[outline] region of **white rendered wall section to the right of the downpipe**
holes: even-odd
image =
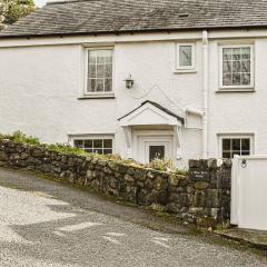
[[[210,43],[209,53],[209,151],[220,157],[218,134],[254,136],[254,154],[267,154],[267,39],[240,40],[254,43],[255,92],[218,92],[219,42]],[[228,41],[228,43],[231,43]],[[233,41],[233,43],[235,43]]]

